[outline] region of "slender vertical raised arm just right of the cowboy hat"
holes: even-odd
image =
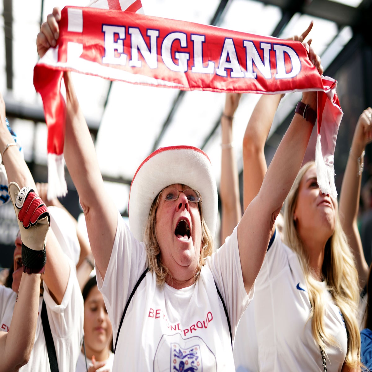
[[[221,244],[241,219],[238,167],[232,143],[232,119],[241,94],[227,93],[221,116]]]

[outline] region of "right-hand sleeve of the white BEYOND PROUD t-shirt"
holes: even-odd
[[[206,264],[211,269],[213,278],[217,284],[230,318],[232,338],[235,338],[235,330],[238,322],[253,298],[254,284],[247,295],[241,272],[240,256],[238,248],[237,228],[227,237],[225,244],[211,257]]]

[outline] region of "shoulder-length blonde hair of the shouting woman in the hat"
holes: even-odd
[[[160,286],[163,286],[166,281],[167,276],[170,276],[171,278],[171,275],[170,275],[168,268],[161,262],[161,256],[160,256],[161,252],[160,252],[160,247],[159,247],[158,240],[156,237],[155,225],[156,225],[156,211],[158,208],[159,195],[160,193],[157,195],[157,197],[153,201],[153,204],[151,205],[147,224],[145,226],[143,241],[145,243],[146,252],[147,252],[147,265],[150,268],[150,271],[156,274],[157,284]],[[200,219],[201,219],[201,225],[202,225],[202,244],[201,244],[201,251],[200,251],[198,266],[196,268],[196,272],[194,275],[195,281],[199,277],[199,273],[200,273],[202,266],[205,263],[205,259],[208,256],[211,256],[213,252],[213,238],[203,218],[201,201],[198,203],[198,206],[199,206]]]

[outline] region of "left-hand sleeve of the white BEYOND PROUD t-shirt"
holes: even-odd
[[[102,280],[98,270],[97,285],[105,299],[113,333],[118,330],[126,301],[146,268],[144,243],[136,240],[118,212],[118,224],[110,261]]]

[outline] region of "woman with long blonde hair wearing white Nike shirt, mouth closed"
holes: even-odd
[[[257,156],[244,156],[245,196],[256,192],[257,182],[247,182],[247,170],[263,156],[267,134],[257,132],[270,107],[277,107],[274,100],[262,97],[252,115],[256,131],[246,132],[251,138],[245,144],[254,142],[261,150]],[[284,220],[284,243],[274,229],[253,306],[238,327],[235,365],[246,371],[358,370],[357,270],[337,201],[321,193],[314,162],[299,171],[285,202]]]

